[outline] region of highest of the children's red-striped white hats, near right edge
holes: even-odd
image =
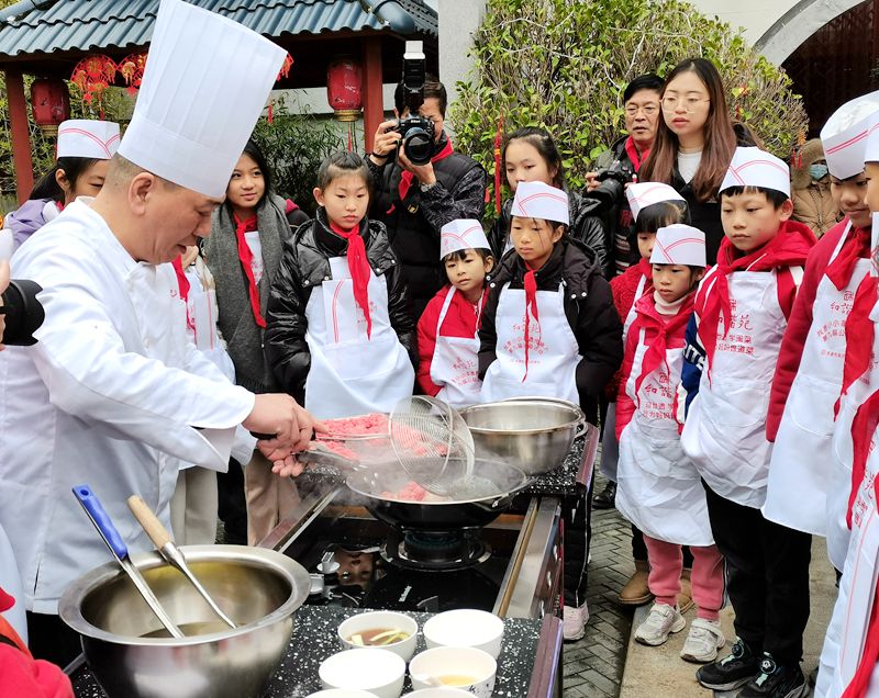
[[[833,112],[821,130],[821,145],[831,174],[847,179],[864,170],[867,136],[877,112],[879,91],[855,98]]]

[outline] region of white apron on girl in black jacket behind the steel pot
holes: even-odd
[[[577,364],[582,357],[565,315],[564,286],[558,291],[537,291],[539,323],[531,318],[528,334],[528,371],[525,376],[525,292],[501,290],[494,316],[498,341],[491,363],[482,382],[481,402],[491,403],[508,397],[535,395],[560,397],[577,405]]]

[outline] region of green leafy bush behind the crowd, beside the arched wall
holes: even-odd
[[[806,127],[790,79],[741,32],[680,0],[489,0],[476,60],[452,108],[456,147],[494,169],[494,134],[542,126],[572,189],[623,133],[622,95],[638,75],[666,75],[690,56],[714,61],[733,116],[786,159]]]

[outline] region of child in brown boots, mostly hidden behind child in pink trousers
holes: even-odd
[[[664,226],[675,223],[689,222],[687,201],[672,187],[661,182],[635,182],[626,187],[634,223],[633,247],[637,247],[641,259],[638,263],[631,264],[624,273],[611,279],[611,292],[623,331],[635,319],[635,302],[644,294],[653,291],[653,269],[650,254],[656,240],[656,232]],[[601,472],[608,477],[605,488],[596,495],[592,506],[596,508],[610,508],[614,505],[616,493],[616,461],[619,444],[616,442],[616,393],[620,390],[621,373],[617,371],[605,390],[609,406],[604,418],[601,435]],[[619,600],[625,606],[641,606],[653,598],[647,585],[647,549],[644,547],[644,537],[637,527],[632,525],[632,556],[635,561],[635,571],[619,594]],[[689,571],[692,566],[692,556],[689,549],[683,552],[683,567]],[[687,573],[689,574],[689,572]],[[679,598],[680,607],[686,611],[691,605],[690,583],[687,576],[681,581],[682,589]]]

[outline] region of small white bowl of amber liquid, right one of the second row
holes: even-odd
[[[467,676],[469,684],[449,685],[489,698],[494,690],[498,663],[488,652],[475,648],[433,648],[416,654],[409,663],[412,688],[439,688],[433,682],[443,677]]]

